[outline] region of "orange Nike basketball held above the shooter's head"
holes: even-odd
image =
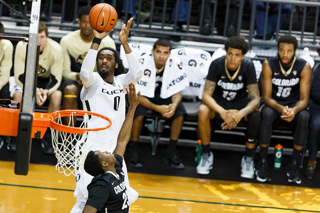
[[[116,26],[118,14],[113,6],[106,3],[96,4],[89,13],[89,21],[93,29],[107,32]]]

